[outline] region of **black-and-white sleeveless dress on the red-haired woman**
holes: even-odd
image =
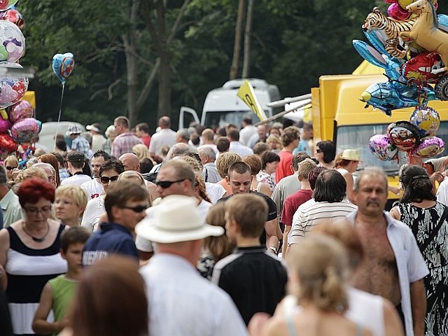
[[[59,225],[55,241],[43,249],[29,248],[13,228],[6,228],[9,233],[9,248],[5,267],[8,287],[5,293],[15,335],[34,334],[31,324],[43,286],[67,270],[66,261],[59,253],[60,236],[64,228],[65,225]]]

